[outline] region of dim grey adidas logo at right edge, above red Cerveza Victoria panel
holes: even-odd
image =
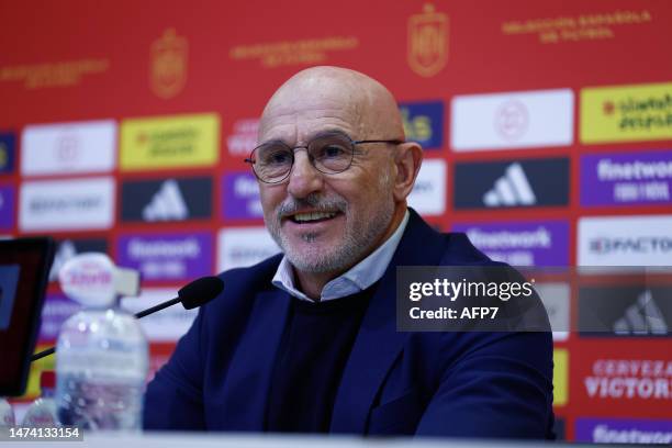
[[[625,315],[614,323],[618,335],[664,335],[668,324],[653,301],[651,291],[646,290],[637,301],[627,307]]]

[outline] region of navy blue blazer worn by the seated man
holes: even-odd
[[[221,275],[148,384],[146,429],[262,432],[290,295],[280,255]],[[331,433],[552,438],[552,339],[540,333],[399,333],[395,267],[490,265],[463,234],[414,211],[363,316],[338,388]]]

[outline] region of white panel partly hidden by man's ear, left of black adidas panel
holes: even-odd
[[[440,215],[446,211],[446,161],[425,159],[408,195],[408,205],[422,215]]]

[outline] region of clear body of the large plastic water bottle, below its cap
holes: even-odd
[[[135,316],[116,306],[80,311],[63,325],[56,356],[63,425],[142,428],[147,340]]]

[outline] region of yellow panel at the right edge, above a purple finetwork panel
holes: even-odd
[[[581,90],[581,143],[672,139],[672,82]]]

